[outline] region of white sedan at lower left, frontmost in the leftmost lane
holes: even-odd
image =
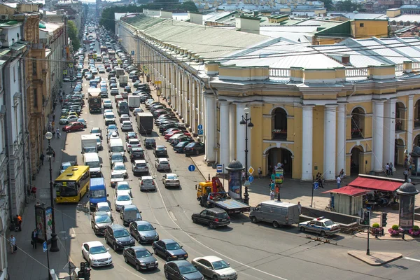
[[[82,244],[82,255],[91,267],[112,265],[112,256],[101,241],[90,241]]]

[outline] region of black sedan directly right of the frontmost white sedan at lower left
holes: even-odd
[[[158,260],[144,246],[125,248],[123,256],[125,262],[134,265],[138,271],[158,268]]]

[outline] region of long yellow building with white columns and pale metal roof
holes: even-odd
[[[401,165],[419,144],[419,38],[296,45],[139,15],[116,23],[120,42],[206,144],[204,160],[334,180]],[[395,48],[395,46],[397,48]],[[252,130],[239,125],[244,109]],[[199,126],[203,125],[203,135]],[[248,146],[245,144],[248,129]]]

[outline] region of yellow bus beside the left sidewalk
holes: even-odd
[[[89,185],[89,167],[71,166],[55,179],[54,186],[57,193],[55,202],[79,202],[89,190]]]

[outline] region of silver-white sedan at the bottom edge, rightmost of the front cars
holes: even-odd
[[[230,280],[238,278],[236,270],[230,267],[228,262],[214,255],[195,258],[191,263],[197,267],[197,270],[204,277],[207,276],[209,279]]]

